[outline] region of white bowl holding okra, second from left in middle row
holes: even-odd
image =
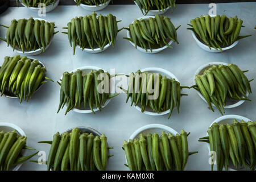
[[[94,67],[94,66],[85,66],[85,67],[76,68],[76,69],[74,69],[74,70],[71,71],[71,72],[74,72],[74,73],[75,73],[75,72],[77,71],[77,69],[80,69],[83,74],[87,74],[87,73],[89,73],[89,72],[92,71],[92,70],[98,70],[98,69],[101,69],[101,68]],[[102,69],[102,70],[104,70],[104,69]],[[104,70],[104,72],[106,72],[106,71]],[[60,79],[62,79],[62,76],[60,77]],[[61,81],[59,81],[59,82],[61,82]],[[110,86],[112,86],[112,85],[110,85]],[[106,100],[105,105],[104,105],[104,106],[101,106],[102,109],[103,109],[104,107],[106,107],[106,105],[109,104],[110,100],[111,100],[111,98],[109,98],[108,100]],[[67,105],[67,104],[66,104],[66,105]],[[92,110],[91,110],[89,107],[86,107],[86,108],[82,107],[82,108],[80,108],[80,109],[73,108],[72,110],[75,111],[76,113],[86,113],[86,114],[87,114],[87,113],[92,113]],[[100,110],[100,109],[96,108],[95,106],[93,107],[93,111],[94,111],[94,112],[96,112],[96,111],[98,111],[98,110]]]

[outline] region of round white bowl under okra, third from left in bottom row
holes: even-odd
[[[146,135],[148,133],[157,133],[159,136],[162,134],[162,131],[164,131],[167,135],[168,134],[172,134],[172,135],[176,135],[179,134],[177,133],[177,131],[175,131],[174,129],[172,129],[169,126],[166,125],[160,125],[160,124],[150,124],[150,125],[145,125],[140,127],[139,129],[137,129],[136,131],[134,131],[133,134],[131,134],[131,137],[129,139],[134,140],[135,138],[139,138],[139,134],[143,134]],[[128,139],[128,141],[129,141]],[[126,159],[126,157],[125,157]],[[127,163],[127,160],[126,160]],[[185,166],[184,170],[187,169],[187,165]]]

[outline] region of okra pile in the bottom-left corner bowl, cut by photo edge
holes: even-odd
[[[26,162],[32,156],[22,156],[23,150],[35,150],[26,146],[27,137],[19,136],[16,130],[5,133],[0,132],[0,171],[9,171],[11,167]]]

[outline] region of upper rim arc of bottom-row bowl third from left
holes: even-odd
[[[147,129],[153,129],[153,128],[166,130],[173,135],[179,134],[176,130],[172,129],[170,126],[154,123],[154,124],[149,124],[149,125],[144,125],[142,127],[139,127],[139,129],[135,130],[134,133],[131,134],[129,139],[133,140],[138,134],[142,133],[142,131]]]

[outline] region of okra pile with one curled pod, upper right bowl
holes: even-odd
[[[220,49],[228,47],[237,40],[246,38],[251,35],[240,35],[243,20],[238,19],[237,16],[228,18],[226,15],[216,15],[210,17],[209,15],[200,16],[192,19],[191,24],[188,24],[197,38],[201,42],[207,44],[209,48]]]

